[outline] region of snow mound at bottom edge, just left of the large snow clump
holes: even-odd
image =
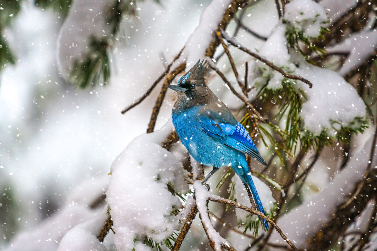
[[[107,218],[106,205],[97,216],[68,231],[61,239],[57,251],[107,251],[108,249],[97,239]]]

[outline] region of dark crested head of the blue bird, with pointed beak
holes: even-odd
[[[183,75],[178,85],[169,85],[169,88],[178,93],[179,102],[202,103],[210,92],[205,84],[205,75],[209,71],[207,61],[198,61]],[[184,101],[185,100],[185,101]]]

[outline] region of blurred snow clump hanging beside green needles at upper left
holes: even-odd
[[[116,0],[76,0],[59,32],[58,62],[64,78],[68,78],[74,62],[83,60],[89,52],[92,36],[112,39],[111,26],[106,21]]]

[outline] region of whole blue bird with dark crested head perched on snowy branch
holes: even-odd
[[[199,60],[179,79],[178,85],[169,86],[178,93],[172,111],[175,130],[196,161],[213,167],[203,184],[216,170],[230,166],[250,188],[257,209],[266,214],[251,179],[245,154],[264,165],[267,164],[244,126],[205,84],[208,71],[208,62]],[[267,221],[259,219],[263,222],[263,229],[267,231]]]

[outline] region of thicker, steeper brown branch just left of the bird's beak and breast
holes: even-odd
[[[164,101],[167,88],[172,83],[175,76],[178,75],[179,73],[181,73],[181,71],[183,71],[185,69],[185,67],[186,67],[186,62],[178,65],[171,73],[169,73],[166,76],[164,84],[161,87],[160,94],[158,95],[158,97],[156,99],[155,106],[153,107],[152,116],[150,117],[147,133],[151,133],[155,129],[157,116],[158,116],[158,113],[161,109],[162,102]]]

